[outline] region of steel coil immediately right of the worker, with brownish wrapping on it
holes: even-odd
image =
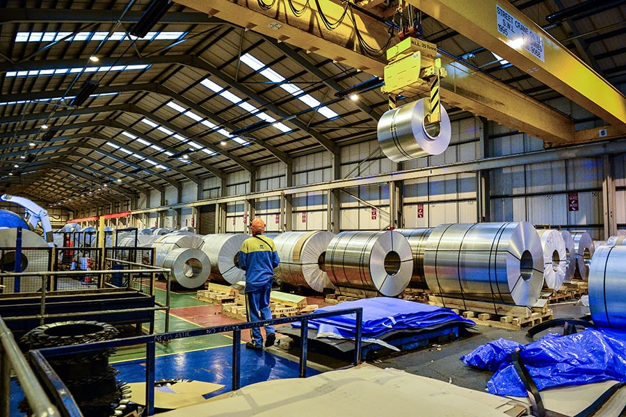
[[[326,250],[335,234],[330,231],[285,231],[275,239],[280,265],[276,275],[295,287],[319,293],[335,288],[326,274]]]

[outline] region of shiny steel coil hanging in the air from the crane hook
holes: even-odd
[[[441,106],[439,130],[424,127],[426,101],[420,99],[387,111],[378,121],[380,149],[394,162],[408,161],[444,152],[452,136],[450,118]]]

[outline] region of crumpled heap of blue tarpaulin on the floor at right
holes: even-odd
[[[527,391],[511,363],[515,348],[514,342],[499,339],[461,359],[466,365],[497,369],[487,382],[489,393],[525,397]],[[520,359],[539,391],[607,379],[626,382],[626,332],[590,328],[568,336],[547,334],[522,346]]]

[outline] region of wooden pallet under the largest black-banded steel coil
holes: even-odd
[[[538,300],[535,306],[529,308],[431,295],[429,304],[452,309],[460,316],[472,320],[476,325],[501,329],[520,330],[522,327],[538,325],[543,320],[550,320],[554,317],[552,310],[547,308],[547,300]]]

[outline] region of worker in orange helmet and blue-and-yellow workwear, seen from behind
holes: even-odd
[[[269,308],[270,293],[274,280],[274,268],[278,267],[280,259],[276,246],[271,238],[262,236],[265,231],[265,222],[255,218],[250,224],[251,238],[243,241],[239,251],[239,268],[246,271],[246,314],[249,322],[269,320],[272,312]],[[265,347],[270,347],[276,341],[273,326],[265,326]],[[246,343],[248,349],[263,349],[261,329],[250,329],[251,341]]]

